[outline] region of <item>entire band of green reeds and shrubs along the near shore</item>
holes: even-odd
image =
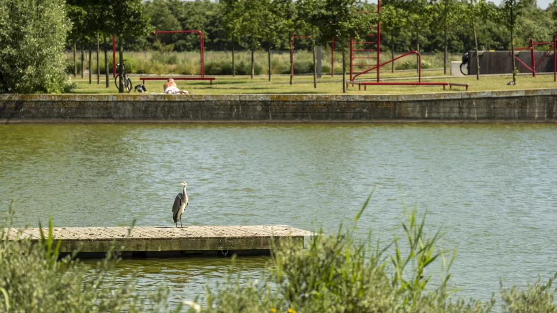
[[[355,217],[357,226],[368,200]],[[450,269],[456,251],[436,246],[439,231],[429,235],[425,214],[405,212],[405,236],[386,245],[355,239],[356,226],[326,236],[319,233],[307,249],[288,242],[273,250],[261,281],[230,272],[216,291],[207,287],[201,304],[184,301],[189,312],[490,312],[491,301],[455,296]],[[136,289],[137,278],[116,277],[114,251],[91,267],[60,258],[52,222],[38,244],[9,241],[10,209],[0,225],[0,312],[168,312],[168,290]],[[247,282],[246,282],[247,281]],[[432,281],[435,281],[432,284]],[[557,312],[553,279],[526,290],[501,286],[504,312]],[[203,301],[203,302],[201,302]],[[182,304],[173,312],[182,311]]]

